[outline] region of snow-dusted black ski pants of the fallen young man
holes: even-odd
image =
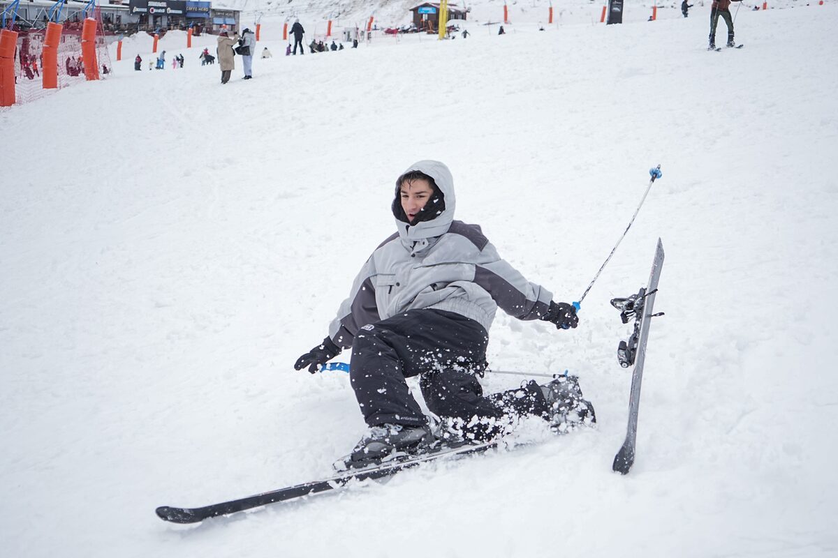
[[[547,403],[535,381],[484,397],[474,373],[486,367],[488,343],[477,321],[445,310],[408,310],[365,325],[354,338],[349,375],[366,423],[427,422],[407,387],[405,378],[411,376],[421,376],[431,412],[463,419],[475,438],[493,435],[510,416],[546,417]],[[494,420],[481,426],[481,419]]]

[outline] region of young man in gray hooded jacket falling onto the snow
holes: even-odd
[[[391,210],[397,233],[367,259],[328,336],[294,368],[318,366],[352,347],[350,381],[370,427],[348,467],[396,451],[422,451],[437,438],[483,441],[535,415],[565,430],[595,422],[574,376],[535,381],[484,397],[475,374],[487,366],[489,327],[498,307],[520,320],[577,327],[576,309],[528,282],[478,225],[453,220],[453,178],[439,161],[419,161],[396,180]],[[405,378],[420,376],[428,409],[442,422],[432,432]]]

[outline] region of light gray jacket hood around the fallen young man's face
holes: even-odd
[[[436,182],[437,188],[442,192],[444,198],[444,210],[435,218],[421,221],[415,225],[406,222],[404,212],[401,211],[401,177],[411,171],[420,171],[427,176],[433,178]],[[431,203],[431,201],[428,201]],[[396,180],[396,198],[393,200],[393,215],[396,218],[396,228],[398,228],[399,236],[403,241],[417,241],[425,238],[433,238],[441,236],[448,232],[451,223],[454,220],[454,208],[456,207],[454,197],[454,179],[451,176],[451,171],[440,161],[417,161],[411,166],[408,166],[404,172],[401,173],[399,179]],[[401,215],[401,218],[400,218]]]

